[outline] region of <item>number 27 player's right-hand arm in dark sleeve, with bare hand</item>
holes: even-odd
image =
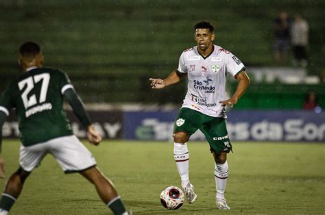
[[[97,145],[101,142],[102,138],[100,134],[95,130],[93,123],[84,108],[84,103],[78,96],[77,92],[73,88],[69,88],[64,91],[64,97],[67,99],[75,116],[79,119],[80,123],[87,129],[87,137],[91,144]]]

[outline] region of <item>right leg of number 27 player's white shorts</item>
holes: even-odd
[[[65,173],[80,172],[96,166],[95,157],[74,135],[51,140],[50,152]]]

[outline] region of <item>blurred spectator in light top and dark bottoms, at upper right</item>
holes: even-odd
[[[291,45],[293,49],[293,65],[307,66],[308,23],[300,14],[296,14],[291,26]]]

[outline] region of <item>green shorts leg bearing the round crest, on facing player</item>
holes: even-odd
[[[189,108],[180,109],[173,125],[173,134],[184,132],[190,137],[199,128],[200,118],[200,112]]]

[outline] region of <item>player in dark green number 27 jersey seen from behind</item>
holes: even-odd
[[[95,188],[114,214],[128,214],[117,190],[103,173],[91,152],[71,131],[63,110],[66,98],[77,118],[88,131],[88,140],[98,145],[101,136],[95,131],[84,105],[69,77],[62,71],[43,68],[43,53],[35,42],[25,42],[19,49],[19,64],[25,73],[14,79],[0,99],[0,149],[2,125],[12,108],[16,108],[22,146],[19,168],[5,185],[0,201],[0,214],[8,214],[21,194],[25,180],[50,153],[65,173],[80,173]],[[0,176],[3,177],[3,158],[0,154]]]

